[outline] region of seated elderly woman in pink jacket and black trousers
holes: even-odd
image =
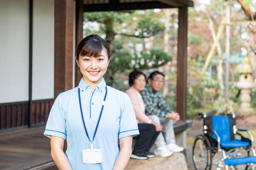
[[[148,157],[155,156],[155,154],[149,152],[149,150],[162,130],[162,126],[160,123],[153,122],[145,115],[145,104],[142,96],[140,95],[140,91],[142,91],[146,85],[145,74],[137,70],[131,72],[129,75],[129,85],[130,88],[125,91],[125,93],[128,94],[131,99],[140,131],[140,135],[134,137],[134,139],[137,139],[137,143],[134,146],[131,158],[148,159]],[[167,157],[171,155],[172,152],[166,150],[159,156]]]

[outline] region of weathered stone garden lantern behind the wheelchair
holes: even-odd
[[[241,113],[250,112],[250,92],[251,89],[255,87],[253,82],[252,69],[250,66],[250,61],[247,57],[242,60],[242,63],[238,65],[239,70],[239,82],[237,82],[237,87],[241,89],[240,99],[241,99]]]

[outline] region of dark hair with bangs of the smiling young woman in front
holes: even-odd
[[[108,42],[99,37],[99,35],[91,34],[79,42],[79,45],[76,48],[76,59],[79,59],[79,55],[97,57],[101,54],[103,48],[106,49],[109,60],[110,51]]]

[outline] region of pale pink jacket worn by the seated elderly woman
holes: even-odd
[[[141,111],[140,98],[137,94],[137,90],[133,86],[131,86],[127,91],[125,91],[125,93],[128,94],[128,96],[131,99],[131,103],[132,103],[133,108],[134,108],[137,123],[139,121],[141,121],[143,123],[148,123],[150,121],[150,118],[147,115],[145,115],[145,112],[143,113]],[[142,100],[142,102],[143,102],[143,100]]]

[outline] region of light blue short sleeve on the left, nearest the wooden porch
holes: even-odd
[[[55,99],[55,102],[52,105],[47,124],[45,127],[44,135],[48,138],[51,136],[58,136],[63,139],[66,139],[66,121],[65,113],[61,107],[61,97]]]

